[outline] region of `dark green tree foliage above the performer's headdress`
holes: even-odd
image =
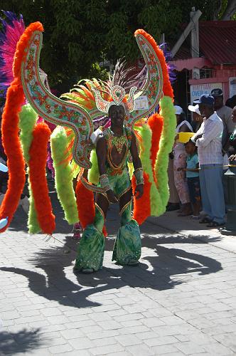
[[[200,19],[223,16],[234,2],[198,0]],[[50,85],[60,91],[80,78],[104,76],[96,63],[114,63],[124,56],[134,61],[139,56],[134,40],[137,28],[144,28],[158,42],[161,33],[167,42],[176,41],[195,4],[195,0],[0,0],[1,9],[23,14],[26,25],[43,23],[41,68],[48,73]]]

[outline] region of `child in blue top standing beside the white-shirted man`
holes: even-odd
[[[193,206],[193,219],[198,219],[200,214],[200,182],[199,182],[199,163],[198,152],[195,143],[189,140],[185,144],[186,153],[186,179],[188,184],[188,192]],[[183,168],[180,168],[183,170]]]

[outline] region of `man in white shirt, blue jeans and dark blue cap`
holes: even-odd
[[[214,98],[203,94],[199,98],[200,114],[204,117],[191,140],[198,147],[200,192],[206,216],[199,222],[208,227],[225,223],[225,201],[222,187],[222,120],[214,112]]]

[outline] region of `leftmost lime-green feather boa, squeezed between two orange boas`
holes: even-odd
[[[31,142],[33,140],[32,132],[34,127],[36,126],[38,115],[33,110],[31,105],[27,104],[27,105],[23,105],[19,117],[20,117],[19,127],[21,129],[20,140],[21,140],[21,145],[23,150],[23,157],[25,158],[26,163],[28,164],[28,161],[30,159],[28,152],[31,147]],[[29,177],[29,167],[27,169],[27,172]],[[39,231],[41,231],[41,228],[38,224],[38,218],[37,218],[34,199],[33,199],[33,192],[31,189],[31,182],[29,178],[28,178],[28,192],[30,194],[28,222],[27,222],[28,232],[30,234],[37,234]]]

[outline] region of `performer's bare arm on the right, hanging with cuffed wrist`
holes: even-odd
[[[130,147],[130,152],[134,164],[134,176],[136,178],[136,189],[134,195],[136,199],[139,199],[144,194],[144,171],[141,167],[141,159],[139,158],[139,151],[136,145],[136,137],[134,135],[134,132],[132,132],[132,143]]]

